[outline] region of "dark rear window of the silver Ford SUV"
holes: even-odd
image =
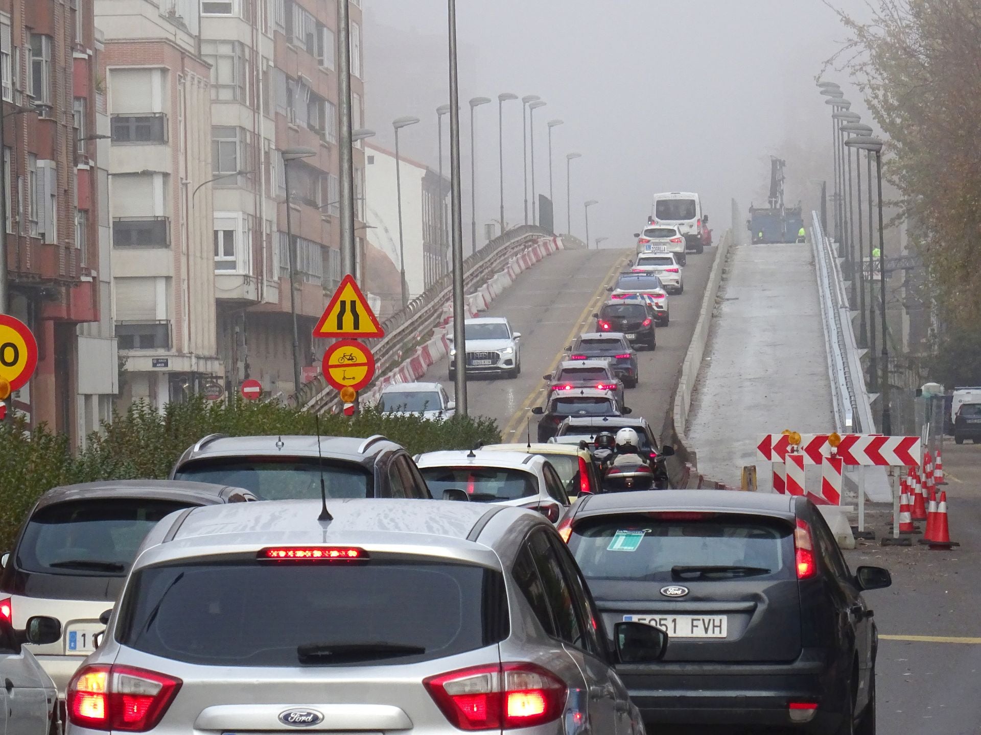
[[[500,641],[506,606],[501,574],[473,564],[204,561],[135,573],[116,635],[137,651],[206,665],[409,663]],[[371,651],[382,643],[387,652]],[[321,655],[302,657],[311,644]]]

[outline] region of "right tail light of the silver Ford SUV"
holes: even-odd
[[[423,679],[439,710],[461,730],[537,727],[562,713],[567,690],[534,663],[475,666]]]

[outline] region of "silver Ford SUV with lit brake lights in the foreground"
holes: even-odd
[[[509,506],[242,503],[146,537],[100,647],[69,686],[68,735],[112,730],[643,735],[552,525]],[[320,520],[320,517],[326,519]]]

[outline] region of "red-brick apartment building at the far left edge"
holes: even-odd
[[[14,405],[33,424],[78,441],[106,417],[112,339],[98,339],[104,289],[99,247],[99,48],[90,4],[0,0],[2,200],[10,312],[38,343]],[[92,340],[79,335],[92,325]],[[79,343],[82,344],[79,347]]]

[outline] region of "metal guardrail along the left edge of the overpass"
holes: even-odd
[[[542,237],[552,233],[534,224],[523,224],[498,235],[483,248],[463,261],[463,288],[473,293],[487,283],[507,262],[524,252]],[[382,322],[385,337],[366,339],[375,355],[377,376],[381,377],[400,362],[403,352],[410,351],[424,335],[437,326],[443,308],[452,297],[452,272],[444,273],[438,281],[417,296],[402,311]],[[306,411],[324,413],[339,405],[337,392],[327,385],[322,375],[307,383],[300,395]]]

